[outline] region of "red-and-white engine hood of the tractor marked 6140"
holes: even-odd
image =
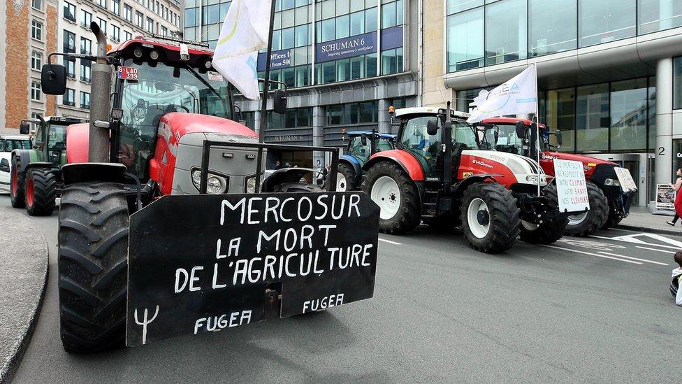
[[[544,187],[548,182],[546,174],[535,160],[513,153],[464,150],[460,169],[467,172],[467,168],[472,173],[498,174],[501,177],[500,183],[508,187],[514,183],[537,185],[538,178],[540,186]]]

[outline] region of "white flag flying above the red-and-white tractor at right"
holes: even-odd
[[[537,112],[537,75],[535,64],[505,81],[494,90],[481,91],[472,103],[476,108],[467,122],[486,118]]]

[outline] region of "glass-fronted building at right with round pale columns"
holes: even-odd
[[[458,109],[537,64],[539,120],[562,131],[560,150],[629,168],[640,206],[673,181],[682,166],[682,1],[447,0],[424,17],[444,17],[444,82]]]

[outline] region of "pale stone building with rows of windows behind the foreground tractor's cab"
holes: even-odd
[[[95,52],[90,22],[99,24],[112,45],[133,36],[175,36],[180,33],[181,15],[177,0],[59,0],[57,48],[59,52]],[[57,97],[57,115],[88,118],[92,63],[65,57],[55,60],[66,66],[67,73],[66,93]],[[39,69],[37,75],[39,80]]]

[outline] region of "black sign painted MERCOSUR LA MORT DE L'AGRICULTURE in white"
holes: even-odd
[[[378,229],[360,192],[162,197],[130,219],[126,345],[264,320],[273,291],[282,318],[368,299]]]

